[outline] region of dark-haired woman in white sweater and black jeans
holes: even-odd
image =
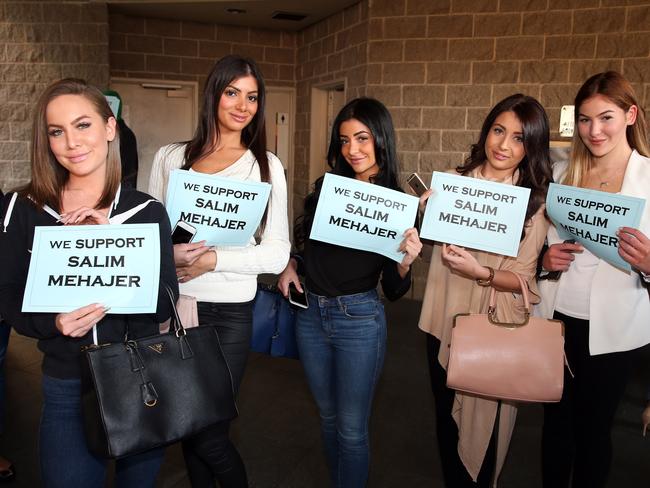
[[[174,260],[181,293],[198,301],[201,325],[214,325],[230,367],[235,392],[242,380],[251,337],[257,275],[280,273],[289,260],[287,189],[280,160],[266,152],[264,80],[255,62],[226,56],[205,84],[196,133],[187,143],[161,148],[154,158],[149,193],[165,199],[171,170],[182,168],[239,180],[271,183],[261,239],[245,247],[177,244]],[[247,487],[246,469],[228,437],[230,422],[183,442],[193,487]]]

